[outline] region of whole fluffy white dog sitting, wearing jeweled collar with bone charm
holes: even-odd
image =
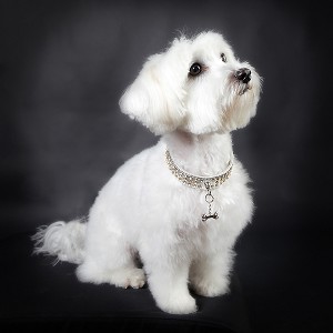
[[[189,284],[204,296],[226,293],[253,210],[230,132],[255,114],[260,91],[255,70],[215,32],[180,37],[150,57],[120,107],[161,140],[117,171],[87,221],[42,226],[36,252],[79,264],[82,282],[148,281],[169,313],[196,311]]]

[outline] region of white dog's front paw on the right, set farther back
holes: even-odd
[[[192,282],[192,287],[198,295],[214,297],[229,292],[229,280],[220,279],[200,279]]]

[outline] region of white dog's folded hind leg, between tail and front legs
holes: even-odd
[[[97,224],[87,233],[87,255],[77,270],[78,279],[95,284],[142,287],[144,272],[135,265],[134,252],[123,232],[107,228],[104,222]]]

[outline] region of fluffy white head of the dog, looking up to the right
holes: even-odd
[[[255,114],[261,79],[221,34],[181,37],[144,63],[120,100],[122,112],[163,134],[230,132]]]

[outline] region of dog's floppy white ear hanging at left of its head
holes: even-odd
[[[174,131],[183,121],[183,69],[173,48],[148,59],[120,99],[121,111],[155,134]]]

